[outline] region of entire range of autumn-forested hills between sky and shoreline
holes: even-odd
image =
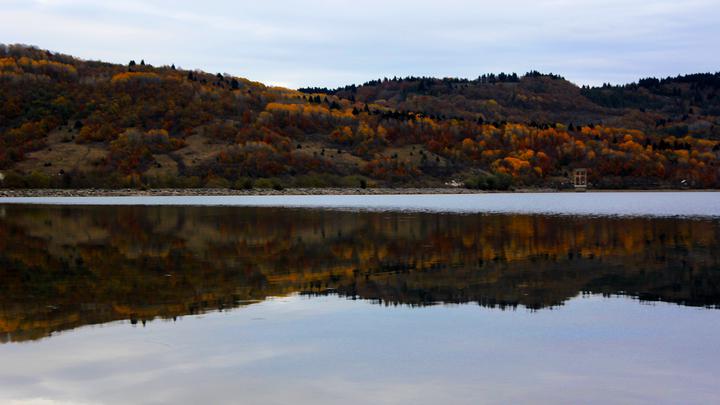
[[[720,187],[720,74],[289,89],[0,45],[2,187]]]

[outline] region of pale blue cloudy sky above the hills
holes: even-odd
[[[0,0],[0,43],[290,88],[530,70],[720,71],[720,0]]]

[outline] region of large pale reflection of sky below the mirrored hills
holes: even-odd
[[[279,298],[0,346],[0,402],[718,403],[720,311]]]

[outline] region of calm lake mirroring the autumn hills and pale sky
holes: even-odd
[[[0,199],[2,403],[720,403],[720,193]]]

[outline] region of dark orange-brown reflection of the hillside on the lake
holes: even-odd
[[[294,292],[540,309],[580,292],[720,304],[720,224],[275,208],[5,207],[0,333]]]

